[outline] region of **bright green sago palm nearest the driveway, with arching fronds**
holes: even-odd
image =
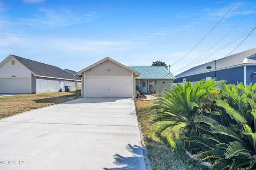
[[[183,125],[187,135],[198,133],[194,125],[194,117],[204,113],[218,113],[210,109],[212,103],[207,97],[218,92],[215,87],[224,83],[224,80],[203,79],[196,82],[194,86],[190,82],[185,82],[184,86],[177,84],[173,90],[165,89],[165,93],[158,96],[153,106],[159,110],[154,122],[166,121],[162,131],[167,127]]]

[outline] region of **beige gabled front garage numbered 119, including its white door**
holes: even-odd
[[[132,98],[139,72],[109,57],[81,70],[82,97]]]

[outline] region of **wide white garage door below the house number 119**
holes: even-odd
[[[132,97],[131,77],[86,77],[86,97]]]

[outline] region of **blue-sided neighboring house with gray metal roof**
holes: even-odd
[[[175,76],[174,83],[196,82],[201,79],[216,77],[227,80],[227,84],[256,83],[256,48],[243,51],[222,59],[202,64]]]

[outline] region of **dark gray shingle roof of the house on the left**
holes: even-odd
[[[18,60],[21,64],[27,67],[31,72],[36,74],[36,76],[48,77],[48,78],[59,78],[66,80],[81,80],[80,78],[70,74],[59,67],[51,66],[44,63],[39,63],[37,61],[32,61],[29,59],[24,59],[16,55],[9,55],[8,57],[13,57]]]

